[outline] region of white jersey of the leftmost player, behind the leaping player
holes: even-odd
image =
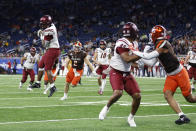
[[[32,56],[31,53],[25,53],[24,57],[27,58],[24,63],[24,67],[27,69],[33,69],[35,62],[39,60],[39,54],[35,54],[35,56]]]

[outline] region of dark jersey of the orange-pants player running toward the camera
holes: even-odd
[[[86,57],[85,51],[74,52],[73,50],[68,52],[68,57],[72,62],[72,68],[77,70],[83,69],[84,66],[84,58]]]

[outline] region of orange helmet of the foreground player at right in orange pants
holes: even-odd
[[[167,30],[163,26],[161,25],[154,26],[149,34],[150,41],[155,43],[156,40],[158,39],[166,39],[167,38],[166,32]]]

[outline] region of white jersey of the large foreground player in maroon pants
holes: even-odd
[[[116,42],[116,46],[114,48],[114,56],[111,58],[110,66],[116,70],[123,71],[123,72],[130,72],[131,62],[125,62],[118,52],[117,48],[121,48],[122,50],[129,51],[129,54],[132,54],[132,51],[129,49],[130,46],[133,46],[135,50],[138,50],[138,43],[137,42],[129,42],[126,38],[118,39]]]

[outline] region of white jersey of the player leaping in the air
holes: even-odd
[[[43,36],[41,39],[44,39],[45,47],[48,48],[59,48],[59,41],[57,35],[57,29],[54,24],[51,24],[50,27],[43,30]]]

